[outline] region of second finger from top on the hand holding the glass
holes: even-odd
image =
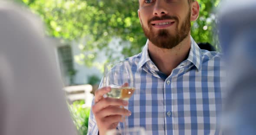
[[[115,99],[111,97],[106,97],[100,100],[98,103],[96,103],[94,106],[92,106],[92,111],[93,112],[98,112],[108,106],[127,106],[128,101],[126,100],[121,100],[121,99]]]

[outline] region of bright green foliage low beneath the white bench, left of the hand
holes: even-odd
[[[78,135],[86,135],[88,132],[88,119],[90,114],[90,108],[84,108],[84,100],[75,101],[69,106],[69,110],[72,113],[72,119],[75,123]]]

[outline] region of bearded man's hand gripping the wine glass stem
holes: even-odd
[[[110,129],[116,129],[118,122],[122,121],[122,115],[131,115],[130,111],[120,107],[128,106],[128,101],[103,97],[110,90],[110,87],[103,87],[95,91],[95,105],[92,106],[92,112],[95,116],[100,135],[105,135]]]

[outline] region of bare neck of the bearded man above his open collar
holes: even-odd
[[[159,48],[148,42],[148,54],[158,69],[166,75],[184,61],[190,51],[190,34],[177,46],[171,49]]]

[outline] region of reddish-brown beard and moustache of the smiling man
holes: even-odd
[[[174,19],[175,23],[177,23],[177,27],[174,30],[174,34],[172,35],[167,29],[160,29],[158,32],[154,32],[152,30],[151,21],[154,20],[163,20],[163,19]],[[142,29],[144,31],[145,36],[148,38],[149,41],[151,41],[154,45],[160,47],[160,48],[167,48],[171,49],[177,46],[180,42],[182,42],[189,34],[190,32],[190,10],[187,14],[186,20],[182,23],[181,29],[178,28],[179,19],[177,16],[162,16],[160,17],[154,17],[150,20],[148,20],[148,26],[149,29],[146,29],[142,24]]]

